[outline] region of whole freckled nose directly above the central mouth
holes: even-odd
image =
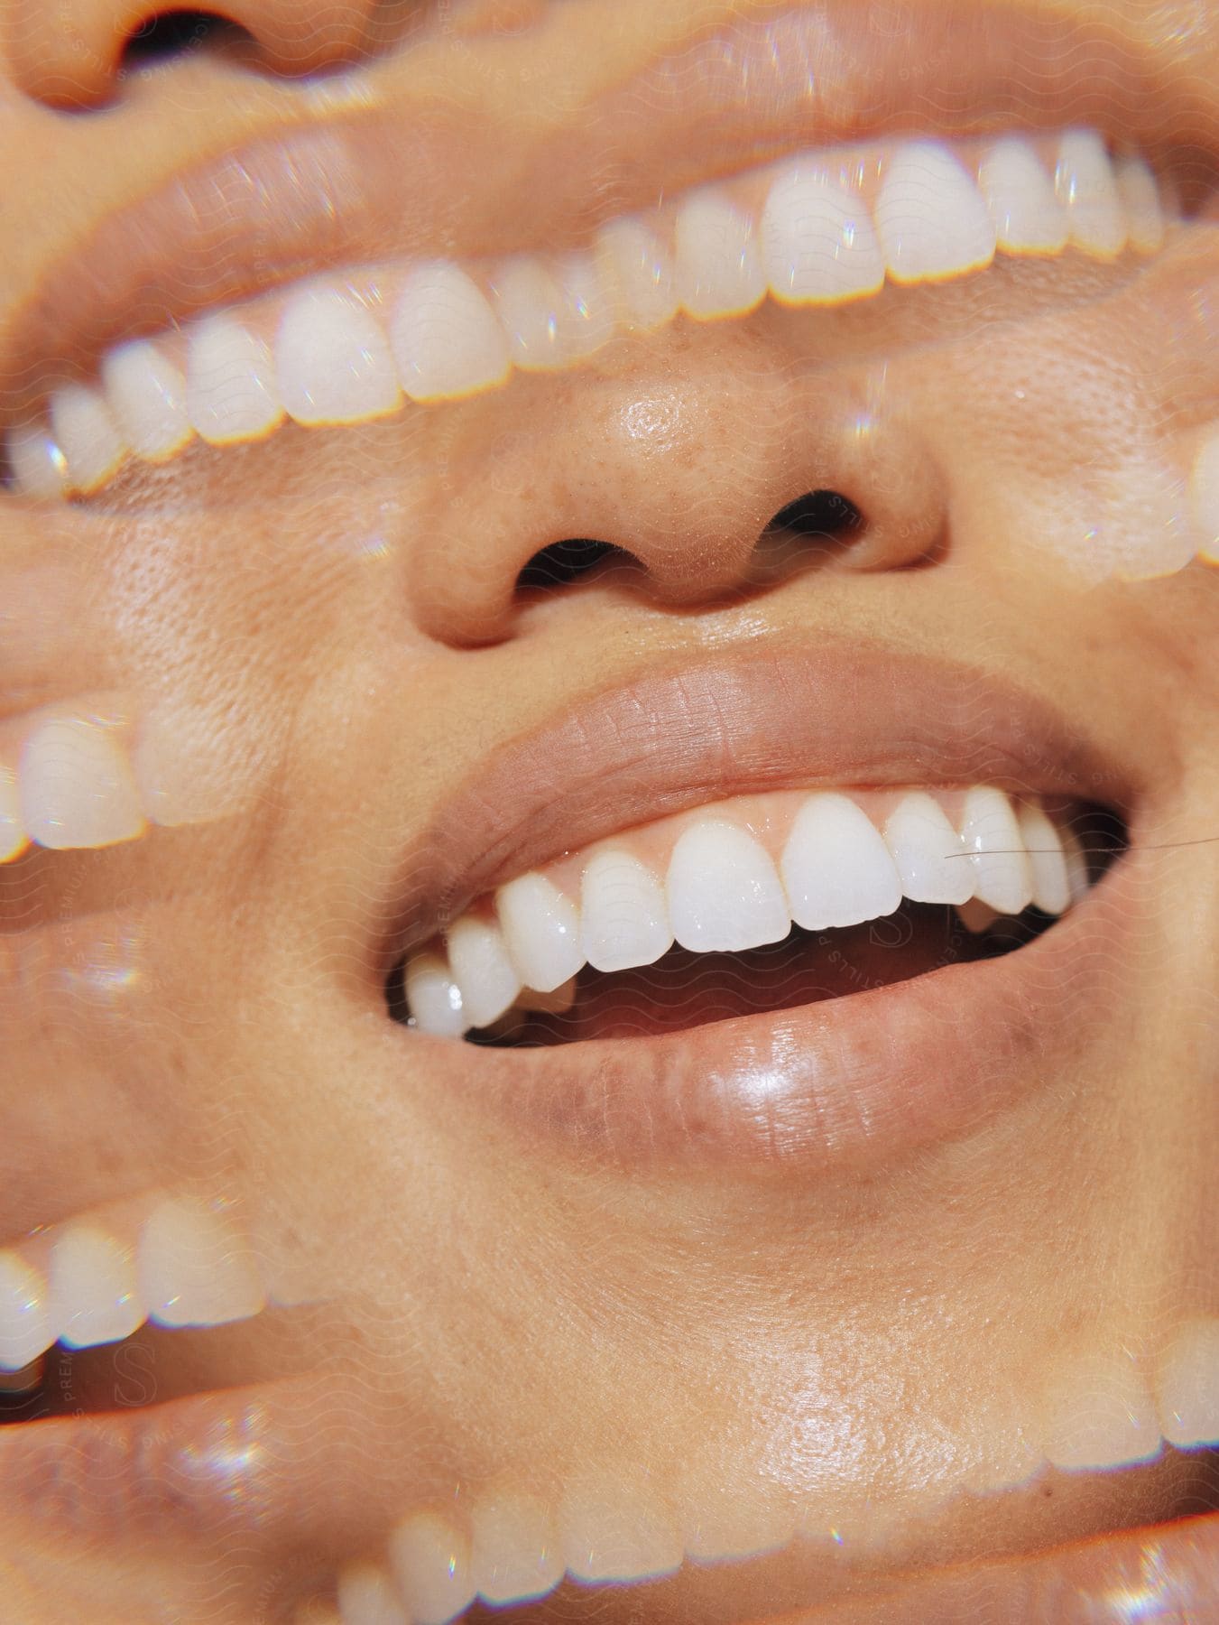
[[[883,369],[794,370],[726,328],[670,335],[630,374],[518,379],[510,393],[511,416],[506,396],[485,408],[503,410],[498,434],[464,437],[477,457],[454,431],[443,496],[414,531],[414,618],[442,642],[511,635],[523,583],[545,578],[547,557],[562,577],[573,554],[605,551],[591,543],[615,549],[602,577],[678,611],[941,544],[945,479]]]

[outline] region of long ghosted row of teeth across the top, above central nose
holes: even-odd
[[[605,226],[592,249],[463,268],[430,260],[312,278],[112,349],[101,388],[65,385],[49,422],[8,434],[15,486],[89,492],[128,457],[164,462],[299,424],[360,422],[579,362],[620,330],[678,312],[743,315],[768,294],[833,306],[891,283],[943,281],[997,252],[1112,260],[1157,252],[1151,169],[1102,138],[909,140],[803,153]]]

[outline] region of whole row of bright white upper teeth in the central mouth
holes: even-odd
[[[406,962],[411,1020],[459,1037],[508,1011],[563,1011],[573,978],[653,965],[674,942],[740,952],[954,904],[971,930],[1088,887],[1079,845],[1036,800],[964,791],[737,796],[589,847],[502,886]]]

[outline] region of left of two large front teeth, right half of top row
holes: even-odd
[[[867,205],[815,158],[790,164],[771,185],[761,255],[766,283],[782,304],[836,304],[885,286],[885,255]]]

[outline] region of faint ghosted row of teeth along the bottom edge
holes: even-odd
[[[1042,1398],[1039,1459],[1023,1459],[995,1482],[1013,1488],[1045,1462],[1096,1471],[1151,1461],[1162,1440],[1178,1448],[1219,1441],[1219,1320],[1187,1321],[1149,1378],[1122,1354],[1070,1370]],[[1034,1438],[1037,1433],[1034,1432]],[[552,1511],[534,1495],[502,1490],[472,1502],[464,1528],[433,1511],[406,1518],[390,1536],[388,1562],[339,1575],[342,1625],[445,1625],[476,1597],[492,1606],[542,1597],[570,1575],[581,1581],[638,1581],[708,1562],[779,1550],[797,1534],[825,1537],[834,1516],[748,1492],[700,1485],[664,1495],[641,1476],[605,1472],[573,1484]],[[841,1534],[841,1531],[839,1531]],[[864,1534],[864,1537],[867,1537]]]

